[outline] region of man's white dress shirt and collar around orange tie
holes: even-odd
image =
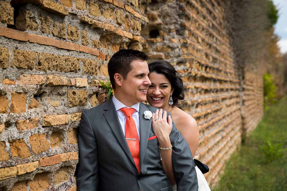
[[[137,135],[139,136],[139,103],[137,103],[131,107],[127,107],[123,103],[121,103],[119,100],[117,100],[115,95],[113,96],[112,101],[115,105],[117,115],[118,115],[121,127],[123,129],[124,135],[125,135],[125,122],[127,121],[127,116],[120,109],[122,109],[122,108],[133,108],[136,110],[135,112],[133,112],[133,115],[131,117],[133,117],[133,120],[135,120],[135,125],[137,126]]]

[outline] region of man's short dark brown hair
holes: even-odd
[[[110,82],[115,89],[115,73],[119,73],[125,79],[127,74],[131,71],[131,62],[134,60],[146,60],[147,55],[144,52],[133,49],[122,49],[116,52],[108,62],[108,75],[110,76]]]

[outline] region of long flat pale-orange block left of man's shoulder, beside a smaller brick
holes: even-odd
[[[68,90],[69,91],[69,90]],[[43,115],[42,126],[54,126],[68,124],[71,121],[71,115]]]

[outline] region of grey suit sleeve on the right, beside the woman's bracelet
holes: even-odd
[[[170,114],[168,113],[168,115]],[[173,122],[170,141],[172,144],[172,168],[177,190],[197,191],[197,175],[190,148]]]

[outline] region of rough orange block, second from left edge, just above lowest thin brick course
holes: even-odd
[[[24,139],[9,141],[12,157],[27,158],[31,156],[30,149]]]

